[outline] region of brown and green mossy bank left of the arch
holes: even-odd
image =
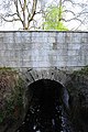
[[[23,108],[24,82],[18,72],[0,68],[0,123],[18,120]]]

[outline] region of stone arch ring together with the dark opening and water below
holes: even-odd
[[[66,74],[57,69],[28,70],[25,78],[26,114],[21,129],[26,128],[28,131],[32,131],[37,128],[41,130],[41,127],[48,129],[51,125],[53,131],[54,129],[57,132],[62,131],[62,111],[64,107],[69,109],[69,96],[65,88]],[[31,125],[28,125],[28,120]]]

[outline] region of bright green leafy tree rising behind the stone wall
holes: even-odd
[[[44,22],[44,30],[59,30],[59,31],[66,31],[68,30],[64,23],[62,22],[63,18],[63,7],[56,7],[52,6],[47,8],[47,11],[45,13],[45,22]]]

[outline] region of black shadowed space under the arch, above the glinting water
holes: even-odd
[[[55,101],[55,98],[59,98],[59,103],[63,103],[66,108],[69,107],[69,96],[67,89],[64,85],[56,80],[38,79],[36,81],[33,81],[31,85],[28,86],[28,100],[30,100],[29,95],[31,95],[31,100],[33,98],[36,98],[41,102],[45,100],[46,103]]]

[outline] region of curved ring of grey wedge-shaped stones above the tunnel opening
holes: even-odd
[[[25,80],[28,82],[28,86],[40,79],[55,80],[65,87],[66,84],[70,80],[70,77],[66,72],[57,68],[47,68],[41,70],[28,69],[25,72]]]

